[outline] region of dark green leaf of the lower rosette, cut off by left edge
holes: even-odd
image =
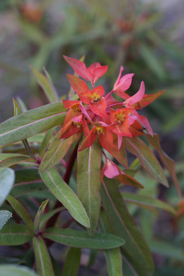
[[[22,224],[5,224],[0,231],[0,245],[20,245],[32,240],[33,235]]]

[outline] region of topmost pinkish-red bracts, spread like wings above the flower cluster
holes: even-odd
[[[63,57],[79,76],[86,79],[86,81],[90,81],[92,85],[95,84],[98,78],[102,77],[106,73],[108,68],[108,65],[101,66],[99,62],[95,62],[90,65],[89,68],[86,68],[85,63],[80,60],[72,59],[70,57],[66,57],[65,55]]]

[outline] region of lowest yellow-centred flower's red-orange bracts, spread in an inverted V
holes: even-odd
[[[104,122],[99,122],[99,124],[101,124],[101,126],[94,126],[94,128],[91,129],[89,135],[86,137],[78,151],[82,151],[85,148],[92,146],[94,140],[98,137],[103,148],[105,148],[116,159],[122,160],[121,153],[113,144],[113,137],[110,133],[114,128],[114,124],[107,125]]]

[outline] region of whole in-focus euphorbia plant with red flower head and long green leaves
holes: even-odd
[[[4,210],[0,211],[0,245],[21,245],[21,258],[36,268],[38,275],[58,275],[47,249],[52,243],[71,247],[62,275],[77,275],[81,248],[103,250],[110,276],[122,275],[122,261],[125,273],[150,275],[154,271],[150,248],[125,205],[121,189],[125,185],[133,186],[134,191],[144,188],[136,179],[141,165],[150,177],[168,187],[161,165],[140,139],[145,136],[180,194],[175,164],[162,152],[158,135],[141,115],[141,109],[164,91],[145,94],[142,81],[130,97],[127,90],[134,74],[121,76],[121,66],[113,90],[107,93],[102,85],[95,87],[107,66],[96,62],[87,68],[82,61],[64,58],[79,76],[91,82],[92,89],[77,76],[67,75],[76,94],[71,100],[57,101],[48,72],[44,69],[44,76],[32,68],[50,103],[21,114],[21,106],[13,99],[14,117],[0,125],[0,204]],[[116,94],[122,101],[113,97]],[[129,168],[126,150],[137,156]],[[138,197],[137,190],[129,193],[130,199]],[[149,208],[175,213],[168,204],[149,198]],[[149,198],[142,195],[140,206],[147,208]],[[12,213],[10,222],[15,223],[7,222]]]

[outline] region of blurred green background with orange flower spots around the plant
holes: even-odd
[[[176,161],[184,192],[183,10],[182,0],[1,0],[0,122],[13,116],[12,97],[19,96],[28,109],[48,103],[29,65],[39,71],[46,67],[62,99],[70,89],[65,74],[73,73],[63,55],[79,59],[85,54],[87,67],[93,62],[108,64],[107,73],[97,83],[106,92],[123,65],[124,74],[135,73],[130,95],[138,91],[142,80],[146,94],[166,89],[141,114],[159,133],[163,150]],[[184,204],[171,181],[166,189],[142,172],[137,179],[146,187],[144,194],[178,208],[178,216],[172,217],[129,206],[153,252],[154,276],[183,275]],[[82,253],[82,266],[87,264],[88,253]],[[59,255],[62,264],[65,254]],[[90,273],[107,275],[101,255]]]

